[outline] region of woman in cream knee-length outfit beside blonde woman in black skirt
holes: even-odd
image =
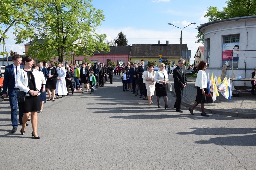
[[[147,89],[148,105],[151,105],[151,103],[153,103],[152,99],[153,99],[155,88],[156,88],[155,87],[156,84],[154,80],[156,72],[153,70],[154,69],[153,64],[150,64],[148,68],[149,68],[149,71],[146,72],[144,80],[146,81],[145,84]]]

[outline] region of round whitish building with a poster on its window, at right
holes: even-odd
[[[204,33],[207,72],[221,76],[226,64],[227,77],[232,77],[233,72],[234,77],[252,78],[251,73],[256,67],[256,15],[208,22],[198,31]],[[235,81],[234,85],[249,87],[251,82]]]

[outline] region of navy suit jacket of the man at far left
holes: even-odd
[[[24,66],[20,65],[20,69],[23,69]],[[13,69],[13,64],[10,64],[5,67],[4,71],[4,79],[3,79],[3,94],[7,94],[8,92],[11,93],[14,90],[15,86],[15,73]]]

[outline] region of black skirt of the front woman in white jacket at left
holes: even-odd
[[[22,112],[37,112],[40,111],[40,97],[39,96],[26,96],[25,102],[22,103]]]

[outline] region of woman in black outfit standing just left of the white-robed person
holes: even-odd
[[[52,100],[53,102],[55,101],[54,97],[55,97],[55,89],[57,84],[57,77],[59,76],[58,70],[54,66],[55,66],[54,62],[51,61],[49,64],[49,67],[47,68],[49,72],[49,78],[46,81],[46,90],[49,95],[49,99],[47,101]],[[53,96],[51,95],[50,89],[52,89]]]

